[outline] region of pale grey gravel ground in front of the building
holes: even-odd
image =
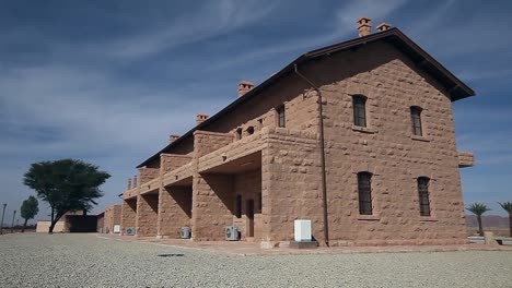
[[[237,256],[95,235],[8,235],[0,287],[512,287],[512,252]]]

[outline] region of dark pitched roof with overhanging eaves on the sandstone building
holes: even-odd
[[[290,64],[284,67],[281,71],[274,74],[272,76],[267,79],[265,82],[263,82],[258,86],[247,92],[243,97],[238,97],[236,100],[234,100],[233,103],[224,107],[218,113],[210,117],[202,123],[194,127],[187,133],[182,135],[179,139],[170,143],[163,149],[161,149],[160,152],[158,152],[156,154],[154,154],[153,156],[151,156],[143,163],[139,164],[137,168],[143,167],[147,164],[155,160],[158,157],[160,157],[161,153],[168,152],[171,148],[176,147],[177,145],[183,143],[185,140],[193,136],[194,131],[200,130],[209,125],[210,123],[214,122],[217,119],[219,119],[226,112],[235,109],[238,105],[252,99],[253,97],[256,97],[259,93],[261,93],[268,86],[276,83],[279,79],[286,76],[289,73],[292,73],[295,64],[300,64],[305,61],[309,61],[309,60],[312,60],[312,59],[315,59],[325,55],[342,51],[346,49],[352,49],[358,46],[365,45],[368,43],[377,41],[377,40],[386,40],[387,43],[394,45],[402,52],[407,55],[415,63],[418,64],[419,69],[429,73],[434,80],[439,81],[439,83],[442,84],[446,88],[452,101],[456,101],[456,100],[475,95],[475,92],[470,87],[468,87],[461,80],[458,80],[452,72],[450,72],[446,68],[444,68],[440,62],[438,62],[428,52],[421,49],[421,47],[415,44],[409,37],[407,37],[398,28],[394,27],[384,32],[370,34],[364,37],[358,37],[348,41],[319,48],[319,49],[316,49],[316,50],[313,50],[313,51],[310,51],[300,56],[299,58],[293,60]]]

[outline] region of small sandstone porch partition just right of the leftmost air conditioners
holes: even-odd
[[[156,236],[159,215],[159,194],[137,196],[137,236]]]

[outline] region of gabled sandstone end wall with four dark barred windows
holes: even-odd
[[[379,57],[368,57],[368,56]],[[386,44],[312,67],[325,97],[329,232],[341,243],[462,243],[466,226],[452,103],[434,81]],[[368,97],[368,129],[352,127],[354,94]],[[411,136],[410,107],[423,136]],[[357,172],[370,171],[374,216],[359,216]],[[427,176],[431,217],[419,213]]]

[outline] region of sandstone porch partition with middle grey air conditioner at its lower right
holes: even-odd
[[[191,187],[166,187],[160,190],[158,235],[181,238],[182,227],[190,227]]]

